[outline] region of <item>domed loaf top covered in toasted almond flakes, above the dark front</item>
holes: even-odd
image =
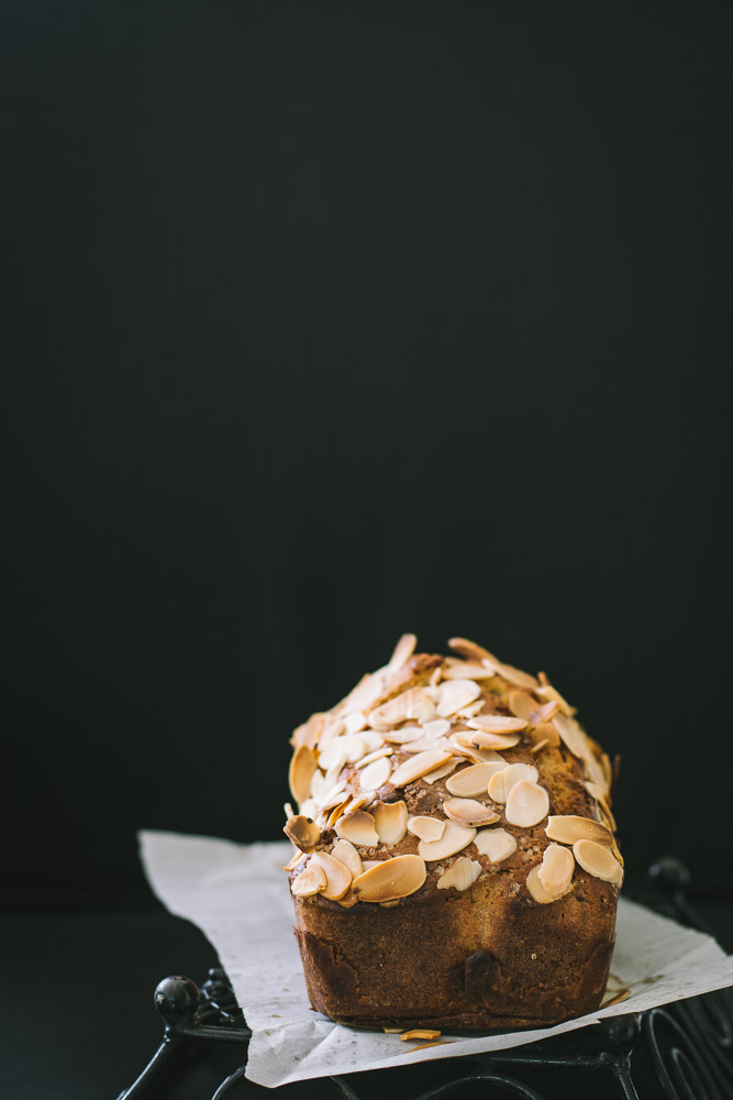
[[[420,903],[510,872],[529,905],[576,867],[617,887],[608,756],[549,683],[466,638],[389,662],[292,735],[285,832],[292,893],[313,904]]]

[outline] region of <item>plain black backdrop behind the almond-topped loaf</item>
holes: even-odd
[[[402,630],[549,672],[631,875],[730,876],[730,4],[2,21],[9,899],[277,837]]]

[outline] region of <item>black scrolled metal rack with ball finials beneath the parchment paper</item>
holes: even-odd
[[[657,892],[655,908],[681,923],[710,932],[686,897],[687,868],[676,859],[658,860],[649,869]],[[151,1086],[185,1044],[201,1042],[248,1043],[246,1026],[234,991],[221,968],[209,970],[199,988],[190,978],[164,978],[155,990],[155,1005],[164,1020],[163,1042],[136,1080],[118,1100],[144,1100]],[[578,1033],[579,1034],[579,1033]],[[440,1100],[477,1081],[496,1085],[521,1100],[544,1100],[543,1094],[506,1072],[517,1069],[591,1069],[610,1072],[624,1100],[640,1100],[632,1079],[631,1059],[640,1038],[649,1050],[656,1079],[668,1100],[730,1100],[733,1097],[733,993],[681,1001],[601,1021],[585,1032],[585,1052],[548,1050],[547,1041],[481,1055],[475,1071],[464,1072],[465,1059],[455,1059],[460,1076],[435,1086],[414,1100]],[[707,1057],[703,1056],[703,1052]],[[212,1100],[224,1100],[245,1078],[246,1063],[218,1087]],[[359,1100],[343,1077],[324,1081],[342,1100]]]

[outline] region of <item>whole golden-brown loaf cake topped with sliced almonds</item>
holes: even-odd
[[[623,875],[608,757],[543,674],[466,639],[447,658],[414,645],[292,736],[286,869],[311,1004],[359,1026],[487,1031],[591,1012]],[[420,758],[445,759],[403,781]]]

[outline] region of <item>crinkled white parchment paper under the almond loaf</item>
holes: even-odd
[[[211,941],[252,1028],[246,1076],[275,1087],[331,1074],[522,1046],[537,1038],[733,985],[733,956],[710,936],[621,899],[612,972],[632,997],[536,1031],[475,1036],[443,1033],[446,1045],[406,1049],[399,1035],[334,1024],[308,1002],[282,865],[288,842],[234,844],[176,833],[140,834],[153,890],[171,913]]]

